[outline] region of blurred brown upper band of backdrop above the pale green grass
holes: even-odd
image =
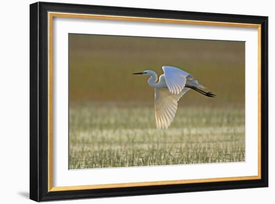
[[[215,93],[212,105],[244,105],[244,42],[69,34],[70,102],[153,102],[147,69],[178,67]],[[189,91],[184,105],[208,103]],[[208,104],[210,105],[210,104]]]

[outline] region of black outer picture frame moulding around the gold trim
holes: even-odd
[[[171,18],[261,25],[261,177],[224,181],[75,191],[48,191],[48,11]],[[268,186],[268,17],[99,5],[36,2],[30,4],[30,199],[33,201],[137,196],[259,188]]]

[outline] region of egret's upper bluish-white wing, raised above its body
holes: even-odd
[[[172,66],[162,66],[165,82],[169,92],[179,94],[184,88],[186,79],[193,79],[193,76],[181,69]]]

